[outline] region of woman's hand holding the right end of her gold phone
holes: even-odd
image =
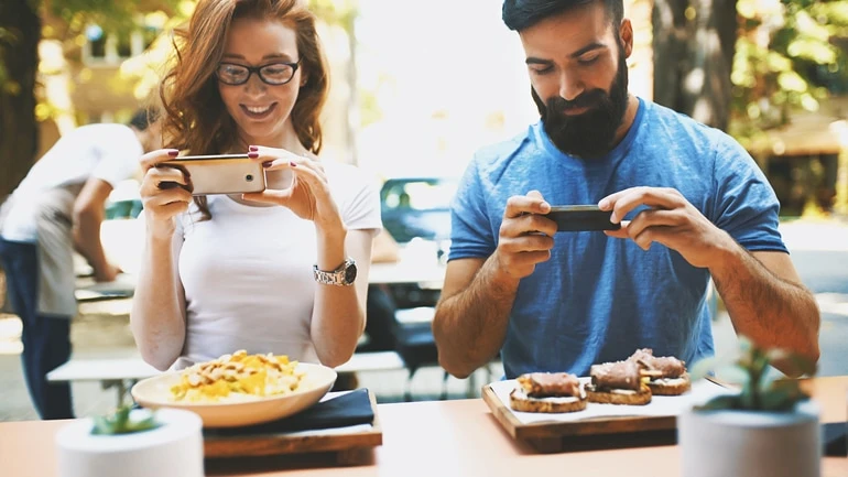
[[[320,162],[284,149],[261,145],[251,145],[248,155],[261,163],[265,171],[291,171],[292,184],[283,189],[265,188],[263,192],[248,193],[242,196],[244,199],[289,207],[297,217],[315,223],[318,229],[343,228]]]

